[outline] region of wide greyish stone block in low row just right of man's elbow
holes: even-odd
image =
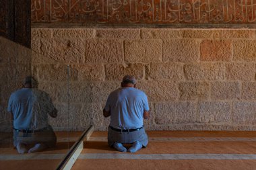
[[[196,122],[195,103],[156,103],[156,124],[191,124]]]

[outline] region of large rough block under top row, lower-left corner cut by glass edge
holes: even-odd
[[[42,39],[40,54],[64,63],[84,62],[84,41],[82,39]]]

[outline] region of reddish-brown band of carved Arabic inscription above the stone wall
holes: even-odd
[[[256,0],[32,0],[32,22],[255,24]]]

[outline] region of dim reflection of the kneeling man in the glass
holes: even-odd
[[[13,144],[18,153],[34,153],[56,144],[48,114],[56,118],[57,110],[49,94],[37,87],[34,77],[26,77],[24,88],[9,97],[7,111],[13,118]]]

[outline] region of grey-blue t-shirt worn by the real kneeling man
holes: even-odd
[[[149,111],[146,94],[133,87],[122,87],[108,95],[105,106],[110,111],[110,126],[119,129],[143,126],[143,112]]]

